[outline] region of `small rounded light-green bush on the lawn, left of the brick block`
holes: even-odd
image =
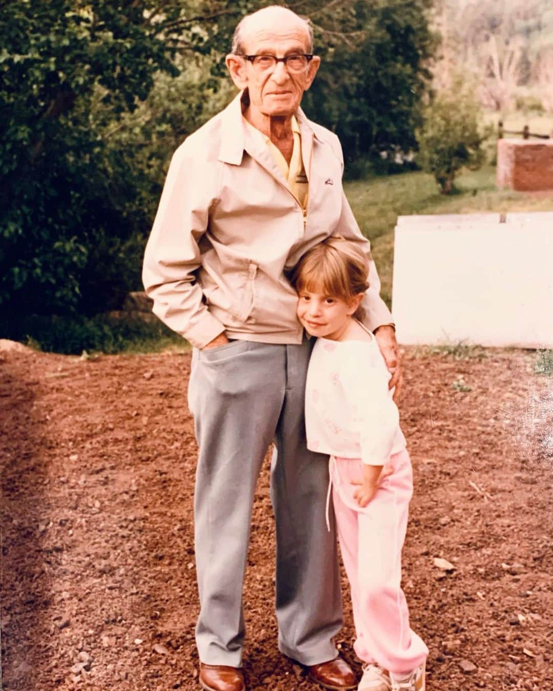
[[[478,170],[485,159],[482,143],[491,130],[480,132],[480,108],[473,91],[457,80],[451,91],[435,95],[424,111],[417,132],[420,166],[433,173],[442,194],[453,191],[453,181],[462,169]]]

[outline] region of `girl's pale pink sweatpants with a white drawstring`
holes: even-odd
[[[401,553],[407,527],[413,471],[406,450],[391,456],[388,475],[363,509],[353,498],[351,480],[362,479],[357,459],[330,458],[332,499],[341,555],[351,587],[360,660],[402,674],[428,655],[409,627],[409,609],[401,589]]]

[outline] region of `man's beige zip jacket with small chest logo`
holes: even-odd
[[[176,150],[144,256],[153,312],[192,345],[218,334],[301,343],[297,296],[287,272],[331,235],[370,245],[341,186],[337,136],[302,111],[308,209],[303,209],[263,139],[243,124],[241,95]],[[369,255],[370,256],[370,255]],[[391,323],[371,260],[366,325]]]

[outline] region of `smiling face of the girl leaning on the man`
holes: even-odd
[[[311,336],[337,341],[350,323],[351,316],[362,296],[355,296],[351,303],[324,293],[301,290],[297,315],[301,325]]]

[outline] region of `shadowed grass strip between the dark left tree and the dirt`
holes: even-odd
[[[21,341],[37,350],[66,355],[83,351],[115,354],[189,349],[187,341],[160,321],[109,319],[103,315],[33,316],[18,323],[0,323],[0,333],[3,338]]]

